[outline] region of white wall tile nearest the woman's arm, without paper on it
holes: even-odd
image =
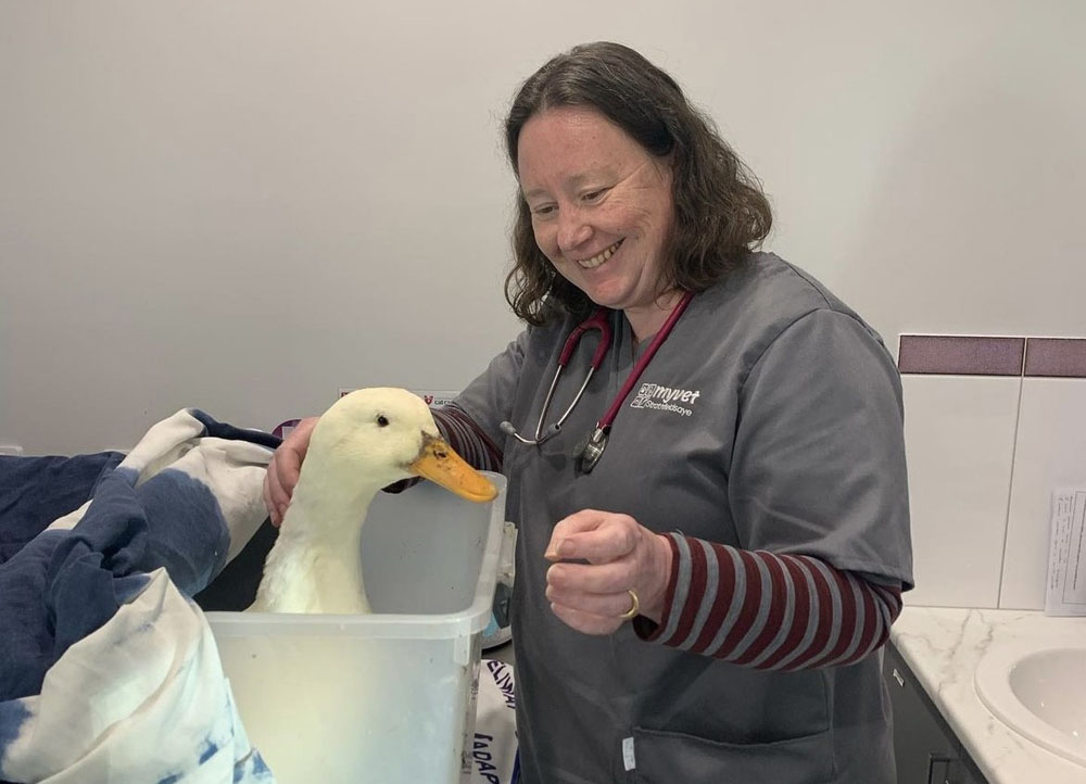
[[[914,606],[996,607],[1021,378],[902,376]]]

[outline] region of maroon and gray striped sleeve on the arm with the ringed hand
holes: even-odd
[[[901,612],[899,585],[819,558],[665,539],[673,568],[664,618],[635,619],[644,640],[760,670],[813,669],[868,656]]]

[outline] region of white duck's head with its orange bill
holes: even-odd
[[[440,437],[422,399],[403,389],[362,389],[340,397],[313,430],[306,464],[314,457],[345,486],[362,482],[376,492],[425,477],[469,501],[497,495]]]

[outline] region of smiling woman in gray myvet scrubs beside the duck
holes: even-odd
[[[551,60],[506,142],[507,298],[528,327],[437,418],[509,478],[523,780],[893,782],[875,652],[912,577],[881,340],[753,252],[765,197],[633,50]],[[595,306],[614,343],[554,428],[596,338],[545,406],[558,356]],[[585,452],[613,405],[603,453]],[[307,433],[269,468],[274,519]]]

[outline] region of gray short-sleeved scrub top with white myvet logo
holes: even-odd
[[[645,642],[630,624],[577,632],[550,609],[554,523],[626,513],[745,549],[811,555],[912,585],[900,379],[879,336],[771,254],[694,296],[615,420],[592,473],[573,456],[630,372],[614,345],[559,435],[527,446],[574,324],[529,328],[457,400],[504,447],[517,523],[512,624],[521,772],[577,782],[894,782],[880,654],[847,667],[759,671]],[[588,371],[585,337],[550,425]],[[624,751],[624,753],[623,753]],[[631,751],[633,767],[631,769]]]

